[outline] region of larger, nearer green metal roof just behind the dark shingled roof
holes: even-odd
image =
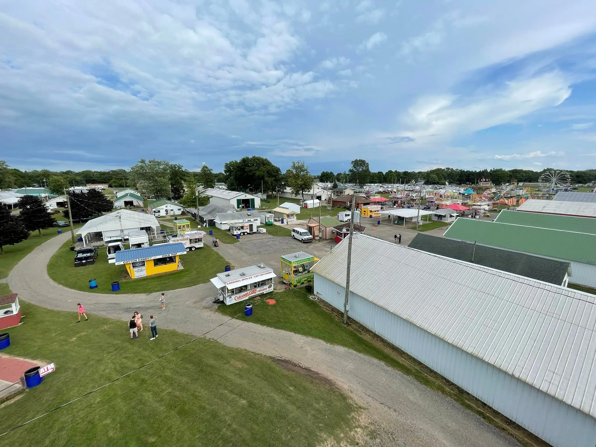
[[[592,234],[460,218],[445,237],[596,265],[596,235]]]

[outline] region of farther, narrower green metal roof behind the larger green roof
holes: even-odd
[[[593,218],[503,210],[499,213],[495,222],[596,234],[596,219]]]

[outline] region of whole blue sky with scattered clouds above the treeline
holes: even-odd
[[[0,5],[0,159],[596,167],[593,0]]]

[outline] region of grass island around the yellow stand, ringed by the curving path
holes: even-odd
[[[223,272],[224,266],[228,264],[219,253],[209,247],[209,243],[207,240],[203,248],[182,254],[182,270],[131,280],[125,266],[108,263],[105,247],[100,247],[94,265],[73,266],[74,254],[69,250],[69,240],[52,256],[48,263],[48,275],[64,287],[94,293],[151,293],[190,287],[207,283],[210,278]],[[89,280],[92,278],[97,280],[98,287],[89,290]],[[111,291],[112,281],[120,281],[120,291]]]

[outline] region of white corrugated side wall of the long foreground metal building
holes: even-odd
[[[315,274],[315,293],[343,310],[346,290],[340,285]],[[350,293],[349,303],[350,317],[541,439],[554,446],[594,447],[596,420],[588,414],[361,296]]]

